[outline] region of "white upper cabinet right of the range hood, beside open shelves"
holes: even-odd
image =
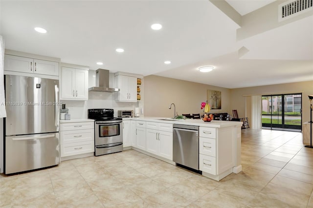
[[[137,102],[137,78],[141,75],[117,72],[115,76],[115,87],[120,91],[116,92],[115,100],[122,102]]]

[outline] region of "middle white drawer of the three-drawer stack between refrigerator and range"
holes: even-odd
[[[93,129],[61,131],[61,144],[94,140]]]

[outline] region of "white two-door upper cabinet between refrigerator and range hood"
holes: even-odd
[[[61,100],[88,100],[88,70],[62,66]]]

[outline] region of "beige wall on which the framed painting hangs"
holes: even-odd
[[[208,89],[222,91],[222,109],[211,110],[211,113],[231,112],[230,89],[155,75],[144,77],[144,81],[145,116],[173,117],[173,108],[168,108],[171,103],[176,105],[179,115],[202,114],[201,102],[207,100]]]

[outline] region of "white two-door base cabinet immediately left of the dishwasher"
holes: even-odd
[[[173,125],[147,122],[146,126],[146,151],[173,160]]]

